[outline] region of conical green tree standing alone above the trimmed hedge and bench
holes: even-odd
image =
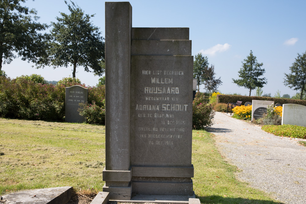
[[[250,55],[247,56],[242,62],[242,67],[238,71],[240,79],[232,79],[239,87],[245,87],[251,96],[251,91],[256,87],[263,87],[267,83],[266,78],[259,78],[265,73],[265,69],[261,68],[263,63],[258,63],[256,56],[253,55],[251,50]]]

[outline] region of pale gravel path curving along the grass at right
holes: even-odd
[[[242,171],[239,180],[270,193],[278,201],[306,204],[306,148],[297,141],[261,130],[261,127],[216,112],[216,145]]]

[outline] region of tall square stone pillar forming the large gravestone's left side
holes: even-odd
[[[106,167],[103,191],[130,200],[130,75],[132,6],[105,2]]]

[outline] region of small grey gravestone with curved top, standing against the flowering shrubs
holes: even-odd
[[[88,99],[88,89],[75,85],[66,87],[65,97],[65,122],[83,123],[86,121],[84,116],[80,116],[77,111],[79,103],[86,103]]]

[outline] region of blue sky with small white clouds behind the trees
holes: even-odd
[[[98,0],[74,1],[87,14],[95,14],[92,23],[105,36],[105,2]],[[264,93],[272,96],[277,90],[294,95],[296,91],[283,84],[284,73],[295,61],[297,53],[306,51],[306,1],[129,1],[132,5],[133,27],[188,27],[192,40],[192,55],[202,52],[210,64],[215,65],[216,77],[221,77],[222,93],[248,95],[248,90],[232,83],[238,78],[238,71],[250,53],[263,63],[268,83]],[[69,13],[64,0],[27,1],[24,5],[35,8],[41,23],[50,24],[60,16]],[[46,67],[35,69],[32,64],[20,58],[2,70],[15,78],[32,73],[41,74],[46,80],[60,80],[72,76],[71,67]],[[95,86],[98,76],[77,68],[76,77],[83,83]],[[200,86],[200,91],[204,87]],[[251,95],[255,95],[255,90]]]

